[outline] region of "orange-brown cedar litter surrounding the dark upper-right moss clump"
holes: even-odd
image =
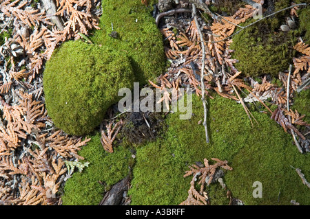
[[[186,2],[179,1],[176,8],[180,8]],[[256,2],[264,3],[264,1]],[[206,1],[206,4],[209,4],[209,1]],[[188,5],[189,8],[190,6],[191,4]],[[297,7],[291,8],[291,16],[298,16],[296,10],[298,10]],[[289,71],[279,72],[281,86],[271,83],[269,76],[264,76],[260,83],[254,78],[244,77],[242,72],[234,67],[234,63],[238,60],[231,58],[234,51],[229,49],[232,42],[229,36],[234,33],[240,23],[247,21],[256,12],[256,8],[245,5],[244,8],[239,8],[234,15],[220,16],[219,19],[214,19],[211,24],[209,21],[198,17],[200,31],[203,33],[203,42],[206,47],[205,69],[203,69],[205,93],[213,98],[208,91],[216,91],[218,95],[240,102],[245,108],[252,126],[254,124],[251,118],[254,120],[255,118],[245,103],[260,102],[271,113],[271,119],[275,119],[286,132],[290,132],[293,136],[296,132],[298,139],[295,143],[300,148],[300,152],[309,152],[310,139],[306,135],[309,135],[310,124],[302,121],[304,115],[300,115],[297,111],[287,110],[287,102],[289,102],[289,106],[293,104],[293,96],[296,95],[300,87],[305,84],[303,89],[309,89],[309,83],[307,84],[310,78],[309,45],[303,43],[302,38],[300,38],[299,43],[293,47],[300,55],[293,58],[294,70],[290,78]],[[167,84],[179,84],[180,87],[190,86],[192,91],[199,96],[202,93],[200,71],[203,49],[200,46],[201,39],[192,14],[174,14],[174,16],[165,16],[164,18],[161,32],[165,38],[165,54],[171,65],[167,72],[158,77],[157,84],[155,82],[150,82],[150,84],[156,88],[160,87],[162,91],[167,89]],[[288,78],[289,84],[287,84]],[[249,94],[244,95],[245,92]],[[170,95],[167,93],[163,97],[166,105],[171,101]],[[271,111],[265,104],[266,101],[277,106],[276,111]],[[267,113],[267,111],[262,111],[262,113]],[[297,126],[306,127],[306,131],[298,130]]]

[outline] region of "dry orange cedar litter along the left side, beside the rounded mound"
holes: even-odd
[[[37,1],[0,1],[0,34],[10,35],[0,47],[0,205],[60,205],[72,174],[65,162],[83,160],[78,151],[90,141],[53,126],[41,73],[63,41],[99,28],[101,1],[55,2],[48,14]]]

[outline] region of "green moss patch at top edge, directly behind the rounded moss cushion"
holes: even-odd
[[[152,1],[154,3],[154,1]],[[163,36],[152,17],[152,3],[141,1],[102,1],[101,30],[96,30],[92,42],[107,45],[130,57],[136,80],[145,84],[165,69]],[[109,36],[113,30],[118,38]]]

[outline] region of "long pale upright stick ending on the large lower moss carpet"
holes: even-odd
[[[200,36],[200,41],[201,41],[201,49],[203,51],[203,58],[201,60],[201,72],[200,72],[200,83],[201,83],[201,100],[203,101],[203,113],[204,113],[204,118],[203,118],[203,126],[205,126],[205,140],[207,143],[209,143],[209,135],[208,135],[208,129],[207,129],[207,102],[205,101],[205,83],[203,82],[204,78],[204,71],[205,71],[205,41],[203,39],[203,33],[200,30],[198,19],[197,19],[197,14],[196,14],[196,6],[193,5],[193,16],[194,20],[196,23],[196,27],[198,30],[198,34]]]

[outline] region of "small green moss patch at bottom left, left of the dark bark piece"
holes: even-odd
[[[113,153],[109,153],[103,150],[100,133],[91,138],[87,146],[79,152],[79,155],[85,158],[85,162],[90,164],[83,172],[74,172],[65,183],[61,198],[63,205],[98,205],[105,189],[129,174],[129,150],[117,147]]]

